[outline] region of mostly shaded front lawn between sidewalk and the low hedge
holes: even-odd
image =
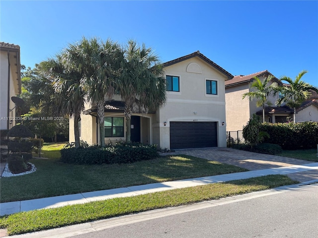
[[[62,146],[63,145],[59,145]],[[44,146],[44,157],[59,154],[51,144]],[[50,150],[51,149],[51,150]],[[51,157],[52,158],[52,157]],[[155,182],[244,172],[232,165],[191,156],[167,156],[132,164],[73,165],[59,159],[32,159],[37,171],[1,178],[1,202],[97,191]]]

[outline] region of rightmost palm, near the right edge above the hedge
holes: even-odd
[[[277,100],[276,104],[281,105],[285,102],[288,107],[294,109],[294,123],[296,123],[296,110],[311,96],[311,90],[318,93],[317,87],[301,80],[305,73],[307,73],[307,70],[301,71],[295,77],[295,80],[287,76],[282,76],[279,79],[280,81],[287,81],[288,85],[280,87],[281,97]]]

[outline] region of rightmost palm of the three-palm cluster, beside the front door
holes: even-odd
[[[121,68],[116,90],[125,102],[126,142],[130,142],[132,114],[145,114],[163,106],[166,86],[159,58],[145,44],[140,47],[130,40],[124,49]]]

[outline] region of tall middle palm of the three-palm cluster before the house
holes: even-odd
[[[83,37],[79,43],[70,44],[67,52],[70,56],[66,63],[68,68],[83,73],[81,85],[87,90],[87,99],[97,108],[100,145],[104,146],[104,103],[114,93],[113,74],[120,47],[109,39],[103,42]]]

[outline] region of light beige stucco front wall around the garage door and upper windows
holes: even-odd
[[[202,73],[186,71],[193,62],[200,66]],[[154,140],[159,140],[161,148],[170,148],[170,121],[216,121],[218,146],[226,147],[226,126],[222,122],[226,121],[224,83],[227,78],[198,58],[172,64],[164,70],[166,75],[180,77],[180,92],[167,92],[167,103],[159,110],[153,124],[154,131],[159,128],[159,139]],[[206,94],[206,80],[217,81],[218,95]]]

